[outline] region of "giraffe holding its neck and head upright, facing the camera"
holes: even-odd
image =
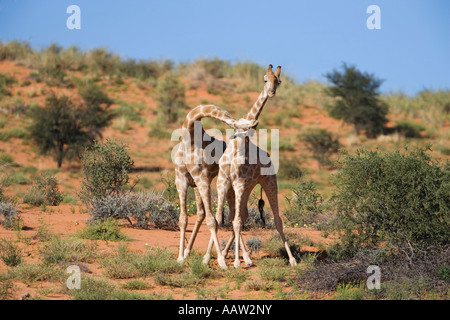
[[[269,68],[267,70],[267,74],[264,77],[264,80],[266,82],[266,85],[264,86],[263,91],[261,92],[261,94],[259,95],[257,101],[254,103],[252,109],[250,110],[249,113],[247,113],[243,119],[239,120],[239,121],[243,121],[243,120],[252,120],[255,121],[254,122],[254,128],[256,128],[257,126],[257,120],[259,115],[261,114],[262,109],[264,108],[264,105],[267,101],[267,99],[269,97],[273,97],[276,93],[276,89],[278,87],[278,85],[281,84],[281,80],[280,80],[280,73],[281,73],[281,67],[278,66],[277,70],[275,72],[272,72],[272,65],[269,65]],[[275,85],[271,85],[273,82],[275,82]],[[267,83],[269,83],[269,85],[267,85]],[[246,137],[243,141],[240,141],[242,139],[236,139],[239,137]],[[273,210],[273,214],[274,214],[274,220],[275,220],[275,225],[277,230],[279,231],[282,240],[285,244],[286,250],[288,252],[289,255],[289,260],[291,265],[295,265],[296,261],[295,258],[293,258],[289,246],[287,245],[284,233],[283,233],[283,229],[282,229],[282,222],[281,219],[279,217],[279,213],[278,213],[278,190],[277,190],[277,180],[276,180],[276,175],[273,173],[271,175],[269,175],[269,178],[267,178],[267,176],[261,176],[261,174],[259,174],[261,167],[264,167],[263,163],[269,164],[268,168],[271,168],[271,161],[270,161],[270,157],[269,155],[265,152],[262,151],[262,149],[259,149],[256,145],[254,145],[252,143],[252,145],[250,145],[250,141],[248,139],[248,130],[238,130],[234,136],[232,137],[232,140],[234,139],[234,141],[232,141],[232,148],[231,149],[226,149],[224,155],[222,156],[220,162],[219,162],[219,177],[217,180],[217,191],[219,193],[219,201],[218,201],[218,208],[217,208],[217,213],[216,213],[216,220],[219,222],[219,226],[222,222],[222,217],[223,217],[223,204],[224,204],[224,195],[227,195],[227,201],[228,204],[230,206],[230,219],[233,220],[235,211],[238,212],[238,215],[236,215],[235,219],[241,219],[241,222],[235,222],[233,221],[233,229],[234,232],[231,236],[231,238],[229,239],[225,249],[222,251],[221,255],[226,256],[232,241],[234,240],[234,237],[236,234],[238,234],[239,236],[237,237],[236,240],[236,246],[235,248],[236,250],[236,259],[235,260],[235,267],[238,267],[240,265],[240,261],[239,261],[239,245],[238,242],[240,243],[240,246],[242,247],[243,250],[243,258],[245,261],[246,265],[251,265],[252,261],[250,259],[250,254],[245,246],[245,243],[242,239],[242,236],[240,234],[240,231],[238,233],[236,233],[236,230],[242,227],[242,223],[244,223],[247,220],[248,217],[248,209],[247,209],[247,202],[248,202],[248,197],[251,193],[251,191],[253,190],[253,188],[256,186],[256,184],[260,184],[262,188],[264,188],[266,190],[266,195],[269,198],[270,201],[270,205],[272,207]],[[237,144],[239,145],[239,148],[237,148]],[[244,153],[242,153],[242,148],[245,148]],[[248,162],[248,156],[249,156],[249,149],[250,150],[257,150],[257,155],[265,155],[265,161],[261,162],[258,160],[258,162],[253,165],[250,164]],[[257,149],[255,149],[257,148]],[[239,155],[237,153],[238,150],[241,150],[241,154]],[[242,159],[246,160],[246,162],[243,162]],[[259,158],[258,158],[259,159]],[[230,172],[230,168],[229,168],[229,164],[231,162],[234,162],[234,167],[235,170],[239,173],[237,176],[234,175],[233,177],[231,176],[231,172]],[[242,165],[239,165],[242,164]],[[266,168],[267,169],[267,168]],[[246,173],[243,173],[243,172]],[[251,175],[250,175],[251,174]],[[247,176],[250,175],[250,176]],[[251,177],[251,179],[250,179]],[[240,183],[236,182],[237,180],[240,180]],[[232,182],[232,183],[231,183]],[[235,183],[236,182],[236,183]],[[243,188],[243,190],[237,190],[236,188],[238,188],[240,186],[240,188]],[[234,189],[234,193],[230,192],[230,187],[233,187]],[[266,188],[270,188],[269,191]],[[239,196],[238,194],[240,194],[242,191],[242,201],[239,200]],[[229,194],[232,193],[235,195],[235,197],[230,196]],[[239,202],[239,208],[238,206],[238,202]],[[236,225],[236,227],[235,227]],[[203,259],[203,263],[208,263],[210,256],[211,256],[211,249],[212,249],[212,239],[210,240],[210,243],[208,245],[208,250],[204,256]]]

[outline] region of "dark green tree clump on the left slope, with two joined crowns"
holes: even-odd
[[[33,123],[29,128],[31,139],[41,154],[52,154],[61,167],[64,158],[73,158],[82,148],[101,137],[112,113],[108,96],[90,84],[80,90],[83,103],[76,105],[67,96],[51,93],[44,107],[31,110]]]

